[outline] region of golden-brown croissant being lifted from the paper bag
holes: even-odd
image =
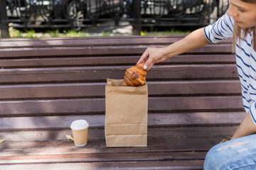
[[[146,82],[146,71],[143,69],[144,63],[137,64],[135,67],[127,69],[124,74],[122,86],[142,86]]]

